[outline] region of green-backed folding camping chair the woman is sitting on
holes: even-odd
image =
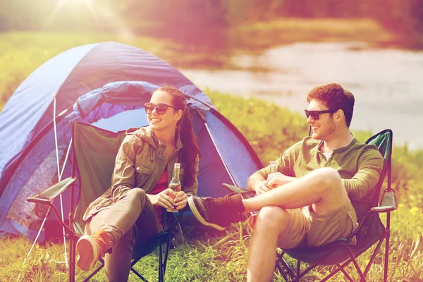
[[[125,132],[113,133],[108,130],[97,128],[93,125],[85,123],[73,123],[73,148],[72,148],[72,164],[71,177],[56,183],[46,190],[39,192],[37,195],[28,197],[27,201],[35,202],[37,204],[48,204],[56,214],[59,223],[65,230],[65,236],[70,240],[69,247],[69,281],[75,281],[75,247],[76,241],[80,235],[84,233],[84,223],[82,216],[85,209],[90,202],[103,194],[103,192],[111,185],[111,174],[114,171],[114,162],[116,154],[121,145]],[[78,173],[79,182],[79,199],[76,201],[77,205],[74,208],[74,185]],[[61,195],[65,190],[71,189],[70,197],[70,212],[68,226],[61,220],[61,216],[54,207],[53,200]],[[36,208],[37,209],[37,208]],[[165,216],[174,216],[171,213],[165,213]],[[166,271],[166,262],[168,257],[168,250],[173,233],[173,227],[178,224],[183,212],[180,212],[176,221],[166,228],[166,231],[159,233],[149,240],[141,247],[133,250],[133,261],[131,263],[131,270],[134,274],[147,281],[141,274],[139,274],[133,266],[146,255],[159,247],[159,281],[164,281],[164,274]],[[165,223],[165,219],[164,219]],[[174,240],[174,239],[173,239]],[[164,250],[163,247],[164,246]],[[84,281],[89,281],[92,276],[104,266],[104,259],[99,259],[101,265],[94,269],[92,273],[85,278]]]

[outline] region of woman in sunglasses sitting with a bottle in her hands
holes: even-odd
[[[149,125],[127,130],[111,187],[87,208],[85,235],[76,245],[77,264],[84,271],[111,249],[105,259],[109,281],[128,280],[133,247],[162,231],[163,208],[183,209],[188,196],[197,194],[200,149],[182,92],[160,87],[145,111]],[[176,162],[181,164],[182,183],[177,193],[167,188]],[[170,194],[176,195],[174,200]]]

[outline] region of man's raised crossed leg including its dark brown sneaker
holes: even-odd
[[[312,205],[315,214],[324,215],[348,200],[338,171],[319,168],[307,176],[250,199],[243,199],[240,194],[221,198],[191,196],[188,204],[200,223],[224,230],[231,223],[243,221],[243,213],[256,212],[263,207],[296,209]]]

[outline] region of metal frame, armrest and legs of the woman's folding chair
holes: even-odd
[[[28,197],[28,202],[35,202],[37,204],[47,204],[54,212],[54,214],[57,217],[57,220],[59,221],[59,224],[64,228],[65,230],[65,238],[69,240],[69,273],[68,273],[68,281],[74,282],[75,281],[75,260],[76,260],[76,243],[78,239],[80,238],[80,234],[75,231],[74,226],[74,220],[73,216],[75,214],[75,207],[74,207],[74,183],[78,178],[75,177],[75,168],[76,168],[76,161],[75,161],[75,149],[72,145],[72,161],[71,161],[71,177],[61,180],[59,183],[55,183],[54,185],[51,185],[49,188],[43,190],[42,192],[37,193],[36,195],[32,197]],[[68,226],[66,223],[64,223],[61,220],[61,215],[57,211],[56,207],[53,204],[53,200],[61,195],[63,192],[65,192],[68,189],[71,189],[71,197],[70,197],[70,211],[68,215]],[[81,188],[82,189],[82,188]],[[180,218],[183,216],[183,211],[180,211],[178,214],[178,217],[176,221],[167,228],[166,231],[159,233],[156,237],[152,238],[147,243],[150,243],[151,245],[149,247],[146,247],[145,249],[142,249],[142,252],[140,252],[135,259],[131,262],[130,270],[133,271],[133,273],[138,276],[142,281],[147,281],[146,278],[144,278],[140,273],[138,273],[133,266],[146,255],[149,255],[149,253],[156,250],[157,245],[159,246],[159,282],[164,281],[164,274],[166,272],[166,262],[168,258],[168,251],[170,247],[170,240],[173,238],[173,233],[168,232],[171,231],[180,221]],[[165,244],[166,247],[163,249],[162,245]],[[145,244],[147,245],[147,244]],[[104,267],[104,259],[100,258],[99,262],[101,262],[100,266],[97,266],[94,271],[90,273],[87,278],[85,278],[84,282],[90,281],[90,278],[97,274],[98,271],[100,271]]]

